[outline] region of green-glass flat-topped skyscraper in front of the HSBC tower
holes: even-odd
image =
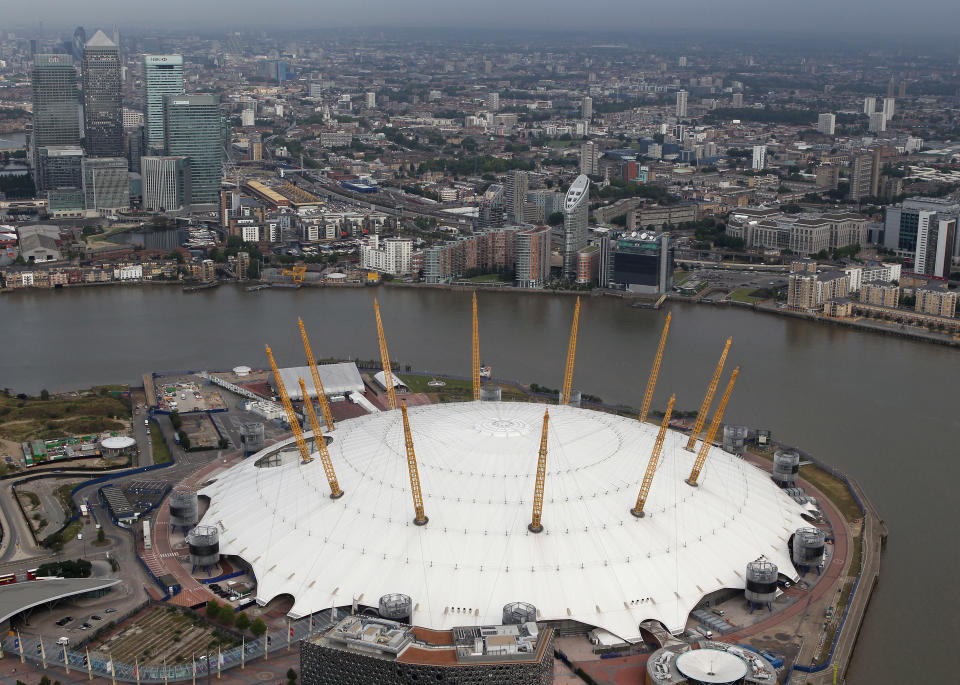
[[[169,156],[190,158],[190,205],[217,205],[223,178],[220,96],[167,95],[164,136]]]

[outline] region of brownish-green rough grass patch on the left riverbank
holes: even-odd
[[[129,415],[124,400],[100,394],[47,400],[0,395],[0,436],[24,442],[121,430]]]

